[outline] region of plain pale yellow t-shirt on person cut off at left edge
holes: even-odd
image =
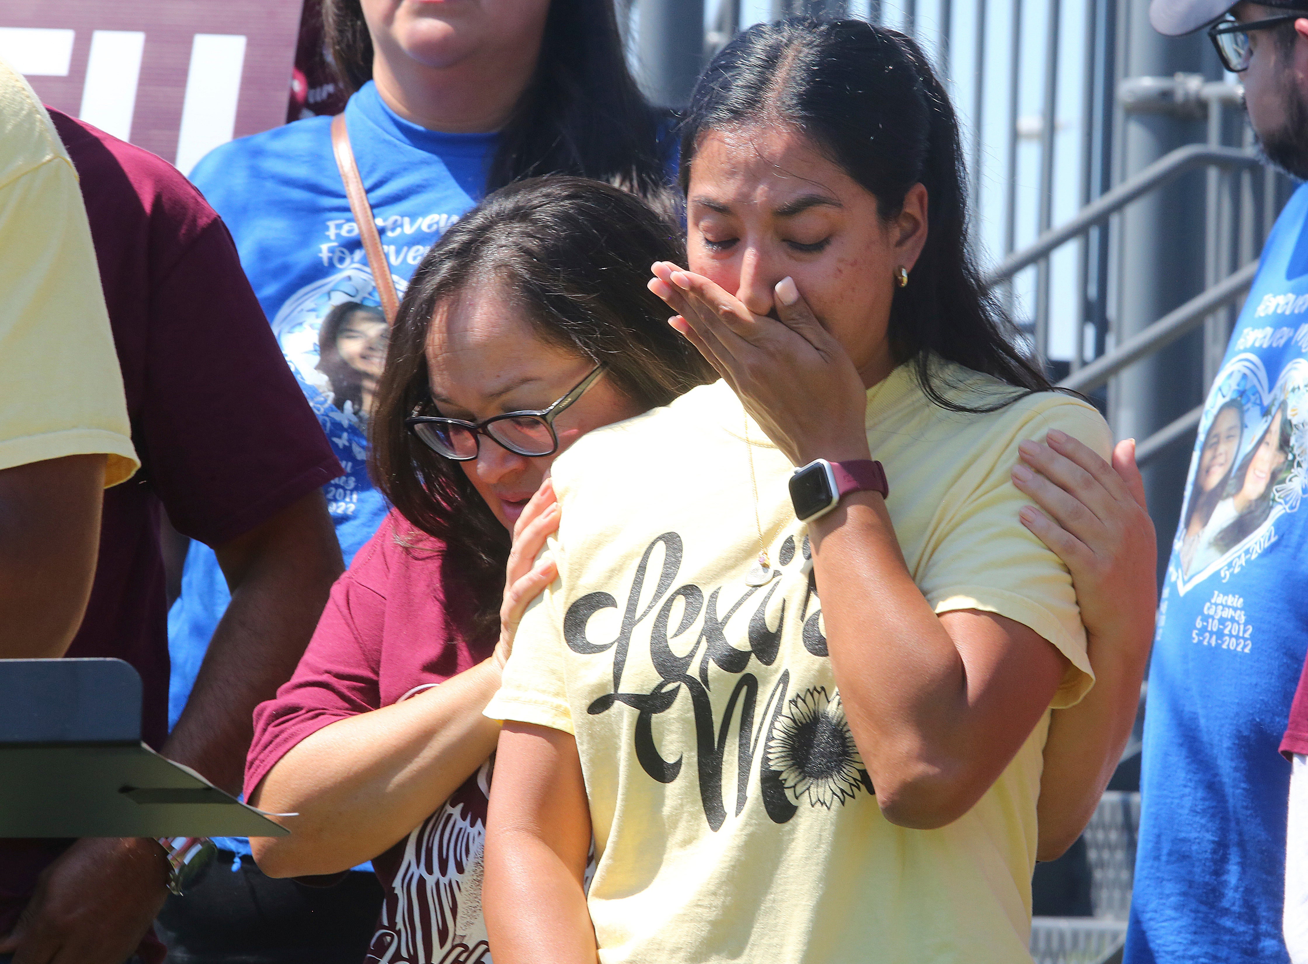
[[[0,60],[0,470],[103,453],[137,468],[90,225],[72,161]]]

